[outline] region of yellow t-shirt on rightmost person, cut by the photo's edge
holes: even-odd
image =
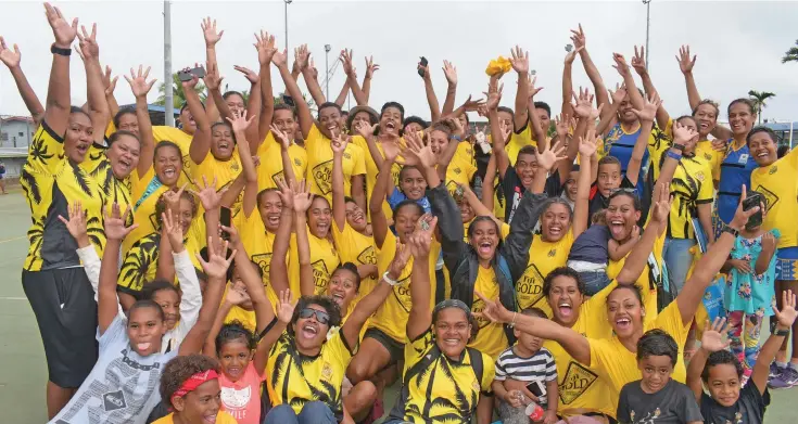
[[[770,166],[751,171],[751,187],[768,200],[762,222],[767,231],[778,229],[778,248],[798,246],[798,149]]]

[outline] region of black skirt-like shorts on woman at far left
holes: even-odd
[[[39,324],[49,380],[80,387],[97,362],[97,303],[86,271],[23,270],[22,287]]]

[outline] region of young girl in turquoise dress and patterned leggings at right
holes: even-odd
[[[773,314],[775,266],[778,230],[762,226],[745,228],[734,241],[734,248],[723,270],[729,272],[723,306],[729,312],[731,349],[743,364],[743,382],[751,376],[759,355],[762,319]],[[745,329],[744,329],[745,327]]]

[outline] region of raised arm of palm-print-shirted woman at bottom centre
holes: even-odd
[[[410,313],[407,318],[407,338],[415,341],[421,334],[429,331],[432,324],[432,310],[430,298],[432,296],[432,283],[430,282],[430,247],[434,236],[438,218],[425,214],[416,223],[416,231],[408,240],[408,246],[413,255],[413,271],[410,272]],[[396,256],[402,255],[397,246]]]

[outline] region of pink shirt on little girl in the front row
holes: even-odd
[[[259,424],[261,383],[265,378],[266,373],[258,375],[252,362],[238,382],[233,383],[220,373],[221,410],[232,415],[239,424]]]

